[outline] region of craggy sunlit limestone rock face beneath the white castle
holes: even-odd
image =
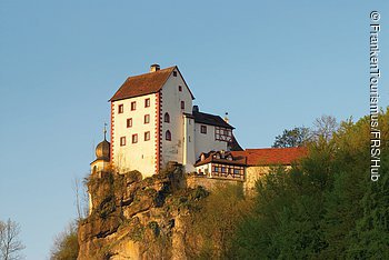
[[[187,259],[182,220],[207,192],[183,183],[180,166],[143,180],[137,171],[90,177],[93,210],[79,224],[78,259]]]

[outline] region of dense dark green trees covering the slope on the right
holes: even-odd
[[[239,259],[389,259],[389,109],[379,116],[381,178],[370,180],[370,120],[319,120],[309,156],[257,183],[238,226]]]

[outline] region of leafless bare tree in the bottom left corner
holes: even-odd
[[[7,222],[0,220],[0,252],[3,260],[21,259],[21,250],[24,246],[19,240],[20,226],[8,219]]]

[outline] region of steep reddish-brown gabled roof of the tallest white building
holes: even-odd
[[[109,101],[117,101],[121,99],[156,93],[163,87],[174,69],[177,69],[177,71],[182,77],[177,66],[157,70],[154,72],[129,77]],[[186,82],[184,84],[192,96],[192,99],[194,99]]]

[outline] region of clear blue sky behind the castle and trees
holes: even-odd
[[[0,0],[0,219],[46,259],[76,217],[113,92],[151,63],[179,66],[200,110],[228,111],[245,148],[315,118],[368,113],[369,13],[381,13],[380,106],[389,104],[389,2]],[[363,3],[362,3],[363,2]]]

